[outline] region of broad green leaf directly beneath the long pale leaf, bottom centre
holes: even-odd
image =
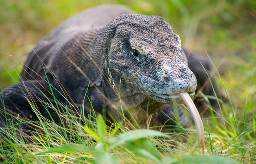
[[[139,139],[132,142],[126,142],[123,145],[128,150],[134,152],[136,155],[152,159],[157,163],[160,163],[162,158],[160,156],[159,151],[149,142],[147,139]]]

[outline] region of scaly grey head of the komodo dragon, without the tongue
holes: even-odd
[[[182,103],[179,93],[194,95],[197,82],[188,68],[181,40],[161,17],[123,15],[114,20],[108,62],[121,80],[161,103]]]

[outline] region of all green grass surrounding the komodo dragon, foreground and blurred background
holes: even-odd
[[[185,163],[211,159],[227,163],[231,158],[241,163],[256,162],[254,0],[204,0],[197,3],[192,0],[0,0],[0,88],[19,81],[22,63],[40,38],[68,17],[103,3],[125,4],[140,14],[160,15],[171,24],[189,51],[205,57],[209,54],[220,74],[217,75],[218,84],[227,102],[217,114],[202,115],[206,159],[198,156],[200,148],[189,156],[192,159],[187,157],[196,141],[193,124],[182,132],[167,133],[168,137],[144,131],[151,135],[115,145],[118,137],[128,139],[132,132],[141,134],[141,129],[128,121],[117,122],[110,128],[100,117],[90,120],[82,114],[77,116],[67,112],[65,115],[59,113],[61,118],[68,120],[64,126],[56,125],[38,113],[40,122],[32,122],[38,130],[28,137],[32,140],[29,143],[26,137],[16,136],[18,129],[10,126],[9,130],[13,132],[5,138],[9,149],[3,147],[3,138],[0,138],[3,161],[93,163],[103,158],[122,163],[175,163],[182,160]],[[65,109],[65,106],[59,107]],[[92,114],[91,117],[96,116]],[[149,129],[150,126],[146,127]]]

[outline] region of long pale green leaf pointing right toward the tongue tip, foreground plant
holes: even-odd
[[[110,142],[112,143],[112,148],[114,148],[116,146],[123,145],[127,141],[131,142],[142,138],[156,136],[167,137],[168,135],[154,130],[132,130],[111,138]]]

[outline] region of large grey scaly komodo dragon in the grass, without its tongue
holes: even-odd
[[[179,93],[194,96],[196,90],[188,63],[208,64],[196,56],[187,61],[187,56],[179,36],[163,18],[134,14],[118,5],[93,7],[62,23],[30,52],[22,81],[0,93],[0,124],[17,121],[6,113],[38,120],[30,103],[60,123],[51,109],[49,116],[43,101],[73,104],[78,109],[84,104],[85,115],[92,104],[96,113],[107,118],[106,113],[116,115],[121,108],[154,113],[160,124],[173,124],[172,104],[183,103]],[[202,67],[189,67],[197,78],[202,77],[198,82],[207,81]],[[186,117],[178,109],[180,123],[185,125]]]

